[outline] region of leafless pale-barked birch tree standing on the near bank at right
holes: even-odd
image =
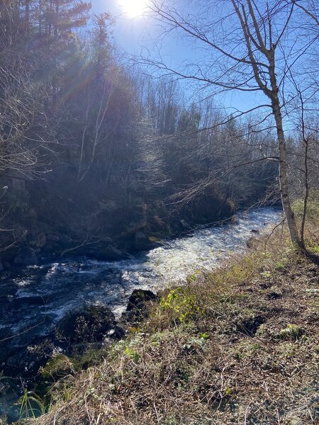
[[[260,92],[267,98],[267,103],[261,103],[254,110],[262,111],[264,118],[269,114],[267,109],[273,115],[281,202],[291,242],[301,246],[291,208],[284,132],[284,118],[289,112],[291,98],[298,94],[292,94],[286,75],[300,67],[302,61],[307,61],[310,52],[315,50],[318,29],[305,34],[300,20],[315,23],[317,16],[296,0],[189,1],[184,15],[169,8],[165,1],[152,1],[150,8],[166,31],[177,30],[190,38],[209,60],[189,62],[183,69],[169,67],[162,61],[147,62],[164,74],[172,73],[181,79],[195,81],[210,89],[211,94]],[[196,16],[194,11],[198,12]],[[240,114],[246,112],[240,111]]]

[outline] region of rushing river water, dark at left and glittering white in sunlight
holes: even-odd
[[[238,215],[234,224],[199,229],[123,261],[77,259],[26,268],[0,283],[0,339],[23,332],[23,342],[47,334],[69,310],[85,302],[102,303],[120,314],[135,288],[155,290],[183,283],[190,273],[211,270],[246,249],[253,229],[269,232],[281,211],[260,208]],[[31,331],[26,329],[33,328]],[[26,331],[26,332],[25,332]],[[19,338],[15,339],[18,344]]]

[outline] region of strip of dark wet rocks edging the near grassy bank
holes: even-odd
[[[133,290],[125,312],[117,319],[104,305],[86,305],[66,314],[50,334],[38,336],[28,346],[6,347],[6,341],[1,341],[0,418],[9,424],[18,420],[21,405],[16,402],[23,390],[35,390],[44,397],[55,380],[74,373],[72,362],[77,369],[84,368],[91,363],[92,351],[107,349],[113,341],[123,339],[147,317],[147,303],[159,300],[160,294],[150,290]],[[11,336],[5,339],[10,341]]]

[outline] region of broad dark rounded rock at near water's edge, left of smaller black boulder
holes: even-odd
[[[71,312],[56,327],[57,339],[67,339],[70,343],[101,341],[111,329],[115,329],[116,319],[110,309],[91,305]]]

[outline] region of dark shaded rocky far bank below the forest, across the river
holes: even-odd
[[[56,177],[59,179],[59,174]],[[101,196],[83,196],[91,192],[91,186],[79,193],[78,189],[66,188],[63,183],[51,181],[53,193],[48,193],[47,182],[34,181],[19,188],[16,196],[10,191],[4,194],[4,210],[11,213],[3,217],[6,231],[0,232],[0,271],[69,256],[97,261],[129,259],[160,246],[162,239],[176,239],[198,227],[227,222],[236,211],[255,201],[245,198],[235,205],[216,194],[187,208],[172,210],[157,197],[148,197],[146,203],[135,193],[130,195],[130,205],[123,205],[117,191],[113,199],[111,196],[102,202]]]

